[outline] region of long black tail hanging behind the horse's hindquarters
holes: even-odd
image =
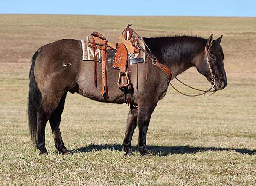
[[[29,96],[28,96],[28,122],[29,122],[29,130],[31,134],[31,140],[35,144],[36,137],[36,123],[37,123],[37,112],[41,105],[42,95],[38,89],[38,86],[35,82],[34,76],[34,68],[35,68],[35,60],[38,56],[38,51],[32,57],[32,64],[29,72]]]

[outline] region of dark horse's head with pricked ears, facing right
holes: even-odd
[[[201,60],[196,63],[198,72],[203,74],[209,82],[212,81],[213,74],[215,79],[214,88],[217,90],[224,89],[227,86],[227,77],[223,64],[224,54],[220,45],[221,39],[222,35],[216,40],[213,40],[211,35],[205,43],[206,52],[201,53]],[[208,65],[207,56],[211,69]]]

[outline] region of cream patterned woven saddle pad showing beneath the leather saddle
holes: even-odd
[[[93,52],[93,48],[86,46],[86,41],[85,40],[78,40],[80,43],[80,47],[81,47],[81,60],[83,61],[93,61],[94,60],[94,52]],[[145,45],[144,43],[139,40],[139,44],[140,46],[143,47],[143,49],[145,49]],[[100,49],[96,49],[97,52],[97,61],[102,62],[102,50]],[[107,54],[108,54],[108,63],[112,63],[113,62],[113,57],[115,54],[116,50],[107,50]],[[137,57],[138,57],[138,53],[134,53],[131,55],[130,57],[130,61],[137,61]],[[143,51],[140,51],[140,58],[143,59],[143,62],[146,62],[146,54]],[[134,59],[134,60],[133,60]],[[142,60],[140,59],[139,62],[141,62]],[[136,63],[131,63],[131,64],[136,64]]]

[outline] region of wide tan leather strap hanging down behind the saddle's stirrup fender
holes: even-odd
[[[107,87],[107,51],[106,46],[102,46],[102,96],[108,96],[108,87]]]

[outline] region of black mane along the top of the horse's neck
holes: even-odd
[[[204,51],[206,39],[195,36],[143,38],[152,54],[163,64],[188,63]]]

